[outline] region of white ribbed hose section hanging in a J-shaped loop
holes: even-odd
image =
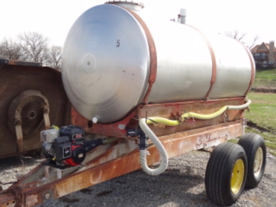
[[[140,164],[145,172],[150,175],[159,175],[163,173],[168,167],[168,154],[166,149],[164,148],[163,144],[157,138],[157,136],[153,133],[153,131],[149,128],[146,123],[146,119],[141,119],[139,121],[139,126],[143,130],[143,132],[152,140],[152,142],[157,147],[160,155],[161,155],[161,162],[158,168],[152,169],[147,164],[147,150],[140,150]]]

